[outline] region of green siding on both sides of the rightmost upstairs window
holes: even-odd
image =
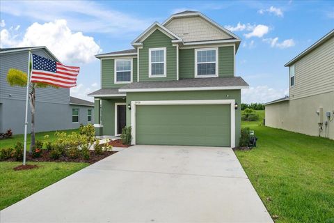
[[[180,49],[179,75],[180,79],[195,77],[195,49]],[[233,46],[218,47],[218,76],[234,76]]]

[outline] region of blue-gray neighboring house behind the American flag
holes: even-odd
[[[14,134],[24,133],[26,88],[10,86],[6,81],[8,69],[28,69],[28,52],[55,61],[56,56],[47,47],[21,47],[0,49],[0,132],[9,128]],[[79,128],[80,123],[93,123],[93,102],[70,97],[70,89],[36,89],[35,131]],[[30,130],[30,107],[28,114]]]

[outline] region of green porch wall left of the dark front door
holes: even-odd
[[[125,99],[102,99],[102,125],[104,135],[115,135],[115,103],[125,102]]]

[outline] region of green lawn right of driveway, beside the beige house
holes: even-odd
[[[236,154],[271,216],[278,215],[276,222],[334,222],[334,141],[259,122],[242,122],[255,130],[257,148]]]

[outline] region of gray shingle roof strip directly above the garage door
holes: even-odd
[[[209,87],[248,86],[241,77],[211,77],[180,79],[167,82],[133,82],[120,89],[177,89],[177,88],[209,88]]]

